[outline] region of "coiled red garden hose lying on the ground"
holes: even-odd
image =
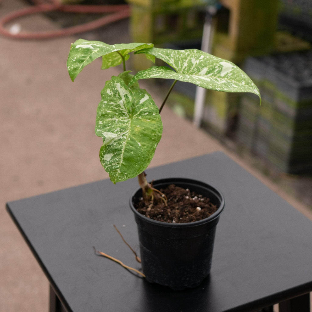
[[[1,2],[1,0],[0,0]],[[4,25],[12,20],[34,13],[41,12],[70,12],[70,13],[111,13],[101,17],[95,21],[88,22],[82,25],[68,27],[65,29],[53,30],[48,32],[22,32],[12,34]],[[81,4],[61,4],[57,0],[52,0],[51,3],[43,3],[40,0],[36,1],[36,6],[26,7],[0,18],[0,34],[16,39],[48,39],[61,36],[73,35],[79,32],[90,31],[95,28],[107,25],[112,22],[124,19],[130,16],[130,9],[127,4],[119,5],[81,5]]]

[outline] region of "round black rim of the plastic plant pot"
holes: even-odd
[[[153,183],[156,184],[156,185],[157,185],[157,183],[158,184],[160,184],[160,183],[175,183],[174,180],[175,181],[179,181],[180,180],[180,182],[184,182],[184,183],[187,183],[187,184],[190,184],[190,185],[196,184],[199,187],[209,188],[209,191],[214,193],[214,195],[220,199],[220,206],[217,209],[217,211],[214,212],[212,215],[210,215],[208,218],[205,218],[205,219],[202,219],[202,220],[199,220],[199,221],[194,221],[194,222],[186,222],[186,223],[168,223],[168,222],[162,222],[162,221],[157,221],[157,220],[154,220],[154,219],[150,219],[148,217],[145,217],[141,213],[139,213],[133,206],[132,198],[140,190],[140,188],[138,188],[137,190],[135,190],[132,193],[132,195],[130,197],[130,200],[129,200],[130,208],[134,212],[134,214],[137,217],[139,217],[142,220],[144,220],[145,222],[149,222],[149,223],[152,223],[152,224],[157,225],[157,226],[171,227],[171,228],[172,227],[173,228],[196,227],[196,226],[200,226],[200,225],[202,225],[204,223],[211,222],[212,220],[214,220],[214,219],[216,219],[217,217],[220,216],[221,212],[224,209],[224,205],[225,205],[224,196],[223,196],[223,194],[221,193],[221,191],[218,188],[216,188],[215,186],[213,186],[211,184],[208,184],[206,182],[202,182],[202,181],[199,181],[199,180],[189,179],[189,178],[163,178],[163,179],[154,180]]]

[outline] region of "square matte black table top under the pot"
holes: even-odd
[[[147,170],[148,179],[185,177],[219,188],[225,209],[217,225],[210,276],[197,288],[149,284],[125,264],[140,265],[129,197],[136,179],[110,180],[9,202],[7,209],[56,294],[73,312],[250,311],[312,290],[312,223],[221,152]]]

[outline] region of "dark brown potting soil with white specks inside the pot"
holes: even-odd
[[[168,206],[165,206],[164,202],[146,205],[141,198],[134,207],[148,218],[168,223],[199,221],[217,210],[217,206],[213,205],[209,198],[190,192],[189,189],[171,184],[160,191],[167,196]]]

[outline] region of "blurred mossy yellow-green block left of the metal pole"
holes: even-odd
[[[130,34],[134,42],[164,43],[201,40],[203,0],[127,0],[131,7]],[[134,58],[135,70],[145,69],[146,58]]]

